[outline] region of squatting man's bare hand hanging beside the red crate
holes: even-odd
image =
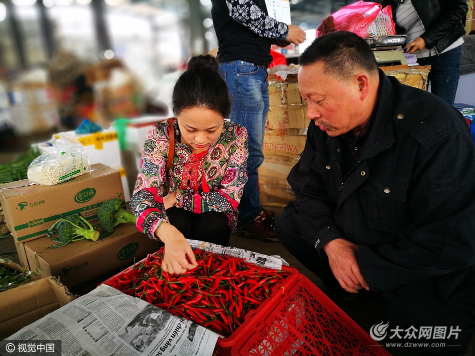
[[[323,246],[328,262],[336,280],[346,292],[358,293],[364,288],[369,290],[359,270],[358,246],[344,239],[335,239]]]

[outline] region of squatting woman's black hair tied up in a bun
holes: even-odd
[[[216,59],[198,55],[188,61],[188,69],[181,74],[173,88],[173,113],[192,107],[205,107],[229,117],[231,102],[226,82],[219,74]]]

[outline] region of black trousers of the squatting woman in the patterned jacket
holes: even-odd
[[[231,229],[227,225],[224,213],[209,211],[194,214],[181,208],[166,210],[168,221],[179,230],[186,239],[229,245]]]

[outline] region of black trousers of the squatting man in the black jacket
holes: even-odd
[[[293,204],[285,207],[279,215],[275,233],[288,252],[317,275],[327,288],[339,286],[328,260],[320,258],[314,247],[303,240],[293,215]],[[447,346],[444,348],[429,346],[425,350],[433,355],[460,355],[468,339],[475,333],[475,272],[456,271],[452,274],[426,278],[393,291],[380,292],[390,316],[386,338],[380,343],[445,343]],[[420,327],[432,327],[432,332],[435,327],[446,327],[445,339],[418,339],[418,333],[415,339],[404,339],[405,331],[399,333],[402,339],[397,336],[389,339],[394,334],[390,332],[391,329],[398,327],[407,330],[411,326],[417,330]],[[450,328],[460,330],[454,333],[457,334],[456,339],[455,336],[447,339]]]

